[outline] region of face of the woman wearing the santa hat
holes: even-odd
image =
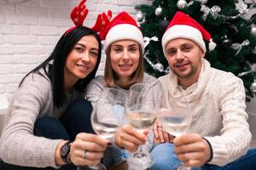
[[[139,44],[132,40],[113,42],[110,47],[111,66],[119,79],[129,79],[140,60]]]

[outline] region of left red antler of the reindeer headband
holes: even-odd
[[[83,26],[83,22],[85,17],[87,16],[89,10],[86,8],[85,3],[86,0],[82,0],[79,3],[79,6],[73,8],[70,18],[73,20],[75,26]]]

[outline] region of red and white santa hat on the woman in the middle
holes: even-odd
[[[100,31],[99,36],[102,40],[105,40],[105,51],[107,51],[111,43],[118,40],[129,39],[138,42],[144,52],[143,33],[137,26],[136,21],[126,12],[121,12],[116,15],[113,20],[108,23],[108,26]]]

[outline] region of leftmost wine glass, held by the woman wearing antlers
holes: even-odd
[[[93,107],[90,117],[95,133],[104,139],[112,139],[123,122],[126,94],[117,88],[106,88]],[[107,170],[102,164],[78,167],[78,170]]]

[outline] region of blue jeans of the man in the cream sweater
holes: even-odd
[[[177,156],[173,152],[173,144],[159,144],[151,151],[154,158],[154,165],[151,170],[172,170],[177,168],[181,161],[177,160]],[[192,168],[196,169],[196,167]],[[233,161],[224,167],[206,164],[201,170],[255,170],[256,169],[256,149],[248,150],[246,156]]]

